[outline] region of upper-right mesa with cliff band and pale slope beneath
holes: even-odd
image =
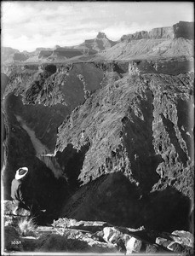
[[[95,56],[96,60],[163,59],[193,56],[194,22],[123,35],[118,44]]]

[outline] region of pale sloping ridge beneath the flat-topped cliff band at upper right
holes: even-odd
[[[159,60],[193,56],[193,41],[184,38],[140,39],[120,42],[95,55],[98,61]]]

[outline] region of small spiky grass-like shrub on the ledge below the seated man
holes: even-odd
[[[18,222],[20,236],[36,236],[37,224],[33,218],[21,218]]]

